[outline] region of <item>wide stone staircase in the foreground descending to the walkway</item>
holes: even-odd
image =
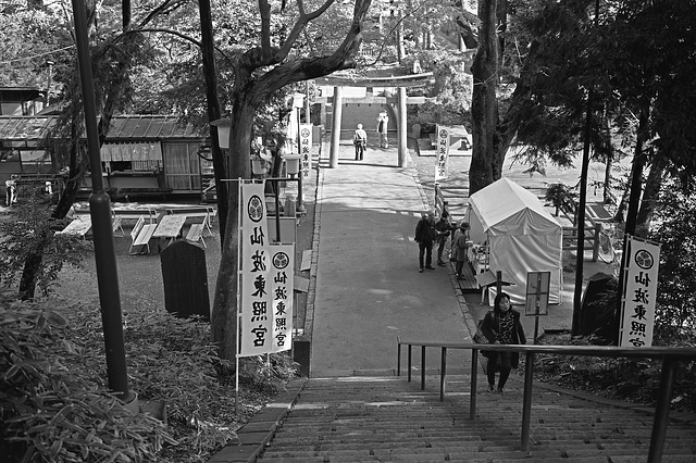
[[[411,383],[405,376],[312,378],[294,402],[285,402],[282,417],[253,456],[214,461],[647,461],[650,410],[614,406],[535,385],[529,451],[522,451],[522,381],[513,374],[500,395],[487,392],[483,375],[478,380],[472,422],[465,374],[448,376],[442,402],[438,375],[426,376],[424,390],[420,376]],[[695,421],[669,425],[662,461],[696,462]]]

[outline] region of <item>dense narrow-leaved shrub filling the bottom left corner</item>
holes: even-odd
[[[162,423],[72,371],[64,359],[78,352],[64,336],[69,322],[47,303],[3,292],[0,324],[0,453],[9,460],[145,461],[174,443]]]

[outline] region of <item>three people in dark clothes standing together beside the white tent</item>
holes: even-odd
[[[439,220],[435,221],[435,213],[423,213],[415,226],[415,241],[419,243],[419,272],[423,268],[435,270],[433,266],[433,247],[437,242],[437,265],[445,266],[443,260],[447,238],[451,235],[449,259],[453,262],[458,279],[463,278],[464,263],[468,262],[468,250],[472,246],[469,239],[470,225],[468,222],[452,224],[449,213],[443,211]]]

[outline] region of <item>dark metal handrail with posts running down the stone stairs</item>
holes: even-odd
[[[618,348],[612,346],[538,346],[538,345],[476,345],[469,342],[423,342],[401,340],[397,337],[397,376],[401,376],[401,346],[408,346],[408,381],[411,381],[411,349],[421,347],[421,390],[425,389],[425,349],[439,348],[442,350],[439,400],[445,400],[445,378],[447,374],[447,349],[471,350],[471,395],[469,401],[469,418],[474,421],[476,415],[476,384],[478,371],[478,351],[517,351],[525,354],[524,365],[524,398],[522,402],[522,433],[520,447],[522,451],[529,449],[530,421],[532,414],[532,387],[534,373],[534,354],[554,353],[558,355],[585,355],[609,358],[639,358],[661,359],[662,373],[660,375],[660,388],[658,401],[652,420],[650,436],[650,449],[648,463],[659,462],[664,450],[664,436],[670,414],[670,401],[672,398],[672,385],[674,383],[674,363],[680,361],[695,361],[696,349],[672,347],[648,348]]]

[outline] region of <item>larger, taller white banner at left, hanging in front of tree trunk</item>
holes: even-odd
[[[265,182],[246,183],[241,185],[239,195],[239,356],[272,351],[271,248],[264,190]]]

